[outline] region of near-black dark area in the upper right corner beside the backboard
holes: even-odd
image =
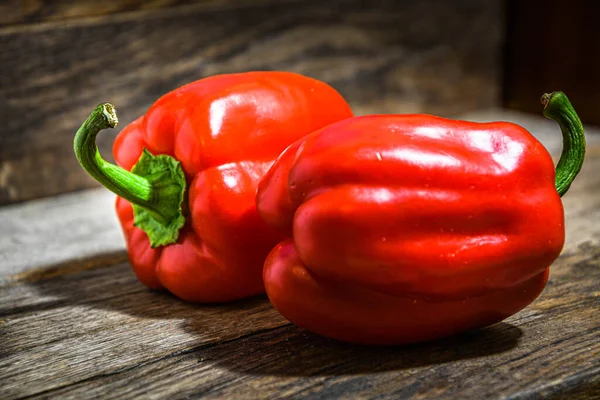
[[[502,104],[537,113],[562,90],[584,123],[600,125],[600,2],[509,0]]]

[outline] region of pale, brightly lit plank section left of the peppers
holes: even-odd
[[[102,188],[0,207],[0,284],[9,275],[65,262],[124,261],[114,202]]]

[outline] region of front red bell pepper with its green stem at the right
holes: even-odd
[[[506,122],[363,116],[290,146],[257,193],[261,217],[290,238],[265,263],[273,305],[324,336],[400,344],[531,303],[563,247],[560,196],[585,152],[566,96],[543,102],[564,136],[556,171]]]

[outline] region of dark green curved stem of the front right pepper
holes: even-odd
[[[562,197],[581,170],[585,158],[583,125],[563,92],[542,96],[544,116],[558,123],[563,136],[563,149],[556,166],[556,191]]]

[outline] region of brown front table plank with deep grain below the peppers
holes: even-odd
[[[79,300],[85,291],[81,282],[70,307],[24,313],[4,322],[8,340],[2,344],[0,395],[78,399],[588,395],[600,384],[599,267],[600,247],[583,244],[555,263],[542,296],[505,323],[390,348],[343,344],[288,326],[260,299],[193,307],[140,292],[87,302]],[[110,268],[106,272],[110,274]],[[62,289],[68,279],[41,283],[46,286],[41,290],[71,296],[70,288]]]

